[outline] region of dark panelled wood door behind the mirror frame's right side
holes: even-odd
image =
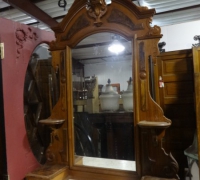
[[[160,102],[165,116],[172,121],[164,144],[177,160],[182,179],[187,167],[184,150],[192,144],[196,128],[192,50],[162,53],[158,64],[165,84],[159,89]]]

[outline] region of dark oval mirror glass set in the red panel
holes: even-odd
[[[50,130],[39,121],[51,115],[59,98],[58,75],[51,65],[47,44],[34,50],[24,82],[24,119],[32,152],[39,163],[46,162],[45,151],[50,143]]]

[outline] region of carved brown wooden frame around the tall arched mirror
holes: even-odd
[[[149,92],[148,59],[151,56],[156,65],[156,56],[159,53],[157,45],[162,37],[160,27],[150,26],[155,10],[138,7],[131,0],[112,0],[109,5],[106,5],[104,0],[101,2],[103,3],[96,1],[96,4],[92,0],[75,0],[62,22],[52,28],[56,34],[56,41],[50,43],[50,50],[53,67],[56,69],[59,66],[60,99],[52,110],[50,118],[65,119],[65,122],[57,131],[62,139],[61,143],[55,142],[49,147],[47,157],[51,162],[66,163],[70,171],[77,173],[81,171],[101,173],[106,176],[120,175],[130,179],[139,179],[144,174],[156,175],[159,170],[156,172],[146,170],[150,160],[146,158],[148,153],[145,152],[142,143],[141,131],[161,129],[162,133],[158,135],[158,141],[161,142],[164,131],[171,125],[171,121],[163,115],[162,109],[151,98]],[[134,104],[137,104],[134,105],[136,172],[74,165],[71,48],[87,36],[100,32],[116,33],[132,40]],[[155,84],[158,84],[157,76],[157,69],[154,68]],[[156,94],[157,92],[158,90]],[[160,153],[161,147],[157,147],[156,150]]]

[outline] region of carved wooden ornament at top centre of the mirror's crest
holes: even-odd
[[[107,12],[107,5],[105,0],[88,0],[87,10],[88,15],[95,19],[95,26],[101,26],[101,17]]]

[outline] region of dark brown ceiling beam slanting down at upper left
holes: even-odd
[[[56,27],[58,22],[49,16],[47,13],[38,8],[35,4],[31,3],[29,0],[3,0],[4,2],[10,4],[11,6],[19,9],[25,14],[31,16],[32,18],[38,20],[49,26],[50,28]]]

